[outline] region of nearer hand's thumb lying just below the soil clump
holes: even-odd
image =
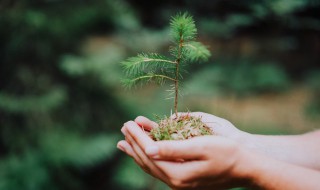
[[[147,146],[148,156],[158,160],[199,160],[204,158],[204,142],[194,137],[178,141],[158,141]]]

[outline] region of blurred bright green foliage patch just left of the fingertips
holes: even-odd
[[[115,134],[84,138],[75,133],[55,131],[44,134],[39,144],[46,162],[84,168],[111,159],[119,139]]]

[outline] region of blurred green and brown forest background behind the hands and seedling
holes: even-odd
[[[138,115],[168,115],[169,86],[123,89],[120,62],[166,53],[194,15],[212,53],[180,111],[261,134],[320,127],[319,0],[0,1],[0,190],[167,189],[116,149]]]

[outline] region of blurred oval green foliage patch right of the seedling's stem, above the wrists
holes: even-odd
[[[248,96],[281,93],[290,87],[283,68],[272,63],[241,62],[237,65],[215,64],[194,73],[185,84],[187,94]]]

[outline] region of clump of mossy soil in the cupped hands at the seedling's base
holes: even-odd
[[[158,124],[159,127],[150,131],[150,136],[155,141],[184,140],[214,134],[212,129],[201,121],[201,117],[190,115],[165,118],[160,120]]]

